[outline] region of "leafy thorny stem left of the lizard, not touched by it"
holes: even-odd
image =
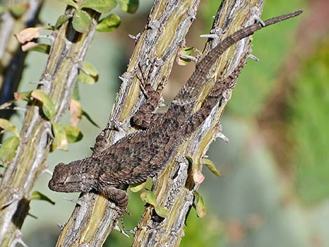
[[[66,13],[72,13],[68,6]],[[92,18],[90,31],[81,34],[66,22],[54,31],[45,70],[38,89],[48,94],[55,104],[52,122],[59,122],[69,106],[78,69],[94,36],[99,13],[88,10]],[[36,101],[27,106],[20,133],[20,145],[13,162],[8,164],[0,189],[0,246],[12,246],[21,238],[20,228],[29,209],[31,190],[36,179],[46,168],[51,143],[51,123],[42,114]]]

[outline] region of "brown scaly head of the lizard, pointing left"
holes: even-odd
[[[57,192],[89,192],[94,188],[94,176],[79,169],[77,162],[59,163],[49,181],[50,190]]]

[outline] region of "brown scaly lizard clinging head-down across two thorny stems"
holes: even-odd
[[[171,160],[177,147],[202,125],[216,105],[220,106],[226,100],[225,92],[235,86],[241,69],[246,64],[247,56],[241,59],[228,77],[216,81],[201,108],[193,112],[193,104],[197,97],[193,89],[202,86],[204,77],[223,52],[230,45],[250,36],[258,29],[295,17],[300,13],[302,11],[274,17],[264,23],[255,22],[223,39],[197,63],[192,76],[164,114],[154,113],[159,105],[163,83],[160,83],[156,90],[153,89],[140,66],[140,87],[146,101],[134,115],[132,122],[143,128],[90,157],[69,164],[57,164],[48,184],[50,190],[100,192],[116,204],[118,213],[122,216],[127,212],[128,196],[125,190],[118,187],[141,183],[148,177],[157,176]]]

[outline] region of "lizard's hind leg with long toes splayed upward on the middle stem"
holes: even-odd
[[[139,64],[141,77],[137,76],[137,78],[139,78],[141,91],[144,93],[146,101],[132,117],[132,125],[141,127],[142,129],[148,129],[151,126],[159,125],[165,116],[165,113],[155,113],[156,109],[162,104],[161,92],[164,87],[163,82],[158,85],[156,90],[151,85],[151,74],[156,61],[157,60],[154,59],[147,77],[141,64]]]

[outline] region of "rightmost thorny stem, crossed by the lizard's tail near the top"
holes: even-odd
[[[218,9],[211,33],[222,34],[220,38],[225,38],[241,27],[253,24],[255,18],[260,16],[262,5],[262,0],[223,1]],[[218,42],[216,38],[209,40],[204,54],[207,54],[209,49],[217,44],[216,42]],[[199,89],[195,111],[200,108],[200,102],[211,90],[214,81],[218,78],[225,78],[232,73],[240,59],[250,52],[251,37],[244,38],[224,52],[218,59],[211,75],[207,76],[207,83],[202,89]],[[228,99],[230,99],[230,94],[231,92],[227,95]],[[199,185],[193,181],[193,173],[201,172],[202,158],[210,143],[221,132],[220,120],[226,103],[227,101],[220,107],[214,108],[204,124],[188,141],[181,145],[176,157],[167,164],[165,171],[162,171],[162,174],[158,176],[153,191],[157,205],[169,209],[169,217],[165,219],[155,217],[153,206],[147,206],[137,227],[134,247],[179,246],[184,234],[183,226],[186,217],[193,205],[193,192],[199,188]],[[180,158],[186,155],[193,157],[193,161],[197,164],[195,167],[190,168],[187,160]]]

